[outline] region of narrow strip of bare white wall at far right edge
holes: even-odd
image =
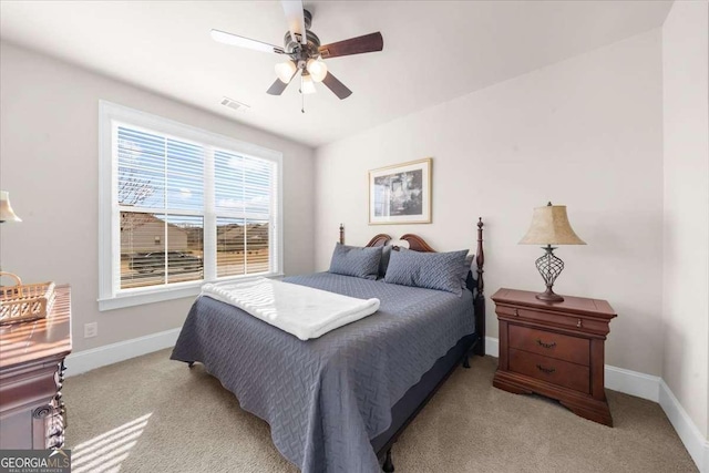
[[[678,1],[662,27],[662,378],[705,438],[709,425],[708,16],[706,1]]]

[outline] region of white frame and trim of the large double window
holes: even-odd
[[[269,255],[270,270],[258,275],[239,275],[216,277],[216,219],[219,213],[214,206],[214,195],[207,195],[207,184],[204,192],[204,273],[203,278],[195,281],[171,282],[168,285],[146,286],[142,288],[120,289],[121,234],[120,209],[117,203],[117,186],[114,179],[117,175],[116,155],[117,143],[114,143],[114,127],[117,124],[143,128],[161,133],[169,137],[197,143],[208,148],[205,153],[205,182],[214,179],[214,150],[219,148],[229,153],[268,160],[276,164],[276,203],[271,212],[270,238],[275,239],[270,246],[276,255]],[[202,285],[212,281],[249,280],[256,277],[284,276],[284,232],[282,232],[282,153],[268,150],[251,143],[242,142],[217,133],[197,128],[179,122],[152,115],[127,106],[107,101],[99,101],[99,310],[112,310],[122,307],[140,306],[196,296]],[[207,224],[214,223],[214,232],[208,232]],[[207,250],[215,251],[214,258],[207,257]],[[214,274],[214,278],[208,275]]]

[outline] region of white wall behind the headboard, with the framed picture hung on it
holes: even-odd
[[[328,267],[340,222],[352,245],[410,232],[454,250],[475,247],[482,216],[487,296],[501,287],[541,291],[534,260],[543,251],[517,241],[533,207],[565,204],[588,245],[556,251],[566,269],[555,289],[607,299],[619,316],[606,362],[659,374],[660,39],[654,30],[318,148],[316,268]],[[368,169],[425,156],[433,157],[433,223],[368,226]]]

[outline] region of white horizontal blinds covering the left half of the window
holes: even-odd
[[[198,144],[116,128],[121,289],[204,277],[204,154]]]

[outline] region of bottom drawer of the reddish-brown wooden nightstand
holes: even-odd
[[[569,363],[555,358],[543,357],[527,351],[510,349],[510,371],[563,385],[575,391],[590,391],[588,367]]]

